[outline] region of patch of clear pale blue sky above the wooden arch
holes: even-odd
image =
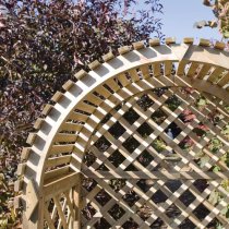
[[[161,0],[161,3],[164,5],[162,32],[166,37],[176,37],[179,43],[183,37],[221,39],[217,28],[193,27],[195,22],[214,19],[212,9],[203,5],[202,0]]]

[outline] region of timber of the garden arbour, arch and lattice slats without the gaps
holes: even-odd
[[[229,53],[224,51],[224,48],[221,43],[216,43],[212,48],[209,41],[204,39],[200,40],[200,45],[193,45],[191,38],[185,38],[181,45],[176,44],[171,38],[166,39],[166,45],[160,45],[158,39],[152,39],[147,47],[140,41],[133,44],[133,47],[120,48],[120,55],[117,57],[111,52],[105,55],[104,63],[94,61],[88,65],[92,71],[82,70],[75,74],[75,82],[67,82],[63,85],[64,91],[56,93],[52,103],[45,107],[44,118],[38,119],[34,125],[38,131],[31,133],[27,140],[32,146],[24,148],[22,154],[23,162],[19,166],[20,180],[15,184],[15,190],[22,192],[21,197],[26,213],[24,228],[93,228],[96,227],[98,218],[106,218],[109,225],[113,227],[118,225],[121,228],[130,221],[129,213],[131,220],[133,219],[140,228],[150,228],[149,226],[157,220],[158,214],[169,228],[178,228],[186,217],[197,228],[206,228],[214,218],[228,227],[228,220],[220,215],[220,209],[229,200],[229,193],[220,188],[221,181],[229,177],[229,169],[220,162],[220,157],[229,150],[229,143],[221,135],[221,130],[229,120],[229,114],[224,108],[229,105]],[[193,88],[194,93],[186,97],[180,92],[180,88],[185,87]],[[166,93],[157,96],[152,93],[155,88],[165,88]],[[193,107],[200,93],[210,101],[201,112]],[[182,105],[171,111],[165,104],[173,95],[179,97]],[[148,107],[145,112],[137,104],[142,96],[146,96],[152,101],[152,107]],[[196,116],[196,120],[190,126],[179,120],[179,116],[186,107]],[[130,124],[122,118],[131,108],[140,116],[136,124],[135,122]],[[167,117],[161,124],[150,120],[158,109],[162,109]],[[214,109],[221,113],[224,120],[216,126],[207,122],[210,136],[198,140],[193,129]],[[108,114],[110,120],[106,120]],[[121,130],[124,130],[121,131],[123,133],[120,136],[113,137],[110,130],[118,122],[122,125]],[[143,137],[137,130],[145,123],[150,126],[152,132]],[[166,134],[171,123],[176,123],[181,130],[181,133],[172,141]],[[188,135],[196,143],[196,148],[191,150],[190,155],[179,146]],[[101,136],[105,136],[105,142],[109,143],[108,146],[105,144],[105,150],[99,152],[99,146],[96,144],[100,144],[98,141]],[[130,136],[134,136],[141,143],[136,145],[134,152],[130,152],[129,146],[123,146],[126,145]],[[224,143],[217,155],[213,155],[206,147],[213,136],[218,136]],[[167,164],[162,164],[168,158],[152,148],[152,142],[158,137],[166,143],[168,148],[179,155],[174,171],[166,168]],[[108,158],[119,148],[125,160],[116,168]],[[154,156],[155,165],[161,164],[162,167],[165,165],[165,171],[152,171],[152,165],[148,165],[146,169],[140,165],[136,158],[145,149],[150,152],[152,157]],[[194,157],[200,149],[212,158],[203,168],[194,162]],[[88,150],[96,157],[92,166],[84,164],[85,153]],[[138,166],[142,171],[125,170],[133,161],[134,166]],[[215,164],[221,168],[217,173],[209,170]],[[101,165],[108,167],[109,171],[100,171],[98,168]],[[98,183],[87,194],[79,194],[82,192],[82,176],[92,178]],[[120,193],[117,194],[111,190],[107,183],[110,179],[130,180],[131,190],[138,195],[144,193],[136,188],[137,180],[155,181],[156,190],[152,188],[148,192],[157,192],[157,188],[162,190],[167,196],[170,196],[169,202],[174,202],[182,212],[180,218],[171,220],[164,214],[169,205],[158,208],[154,203],[149,203],[148,198],[143,197],[138,205],[148,203],[155,209],[155,214],[152,214],[149,219],[141,219],[136,214],[137,210],[128,207],[121,201]],[[206,193],[201,194],[193,185],[193,182],[200,179],[212,182]],[[178,200],[178,196],[183,193],[182,189],[180,188],[176,197],[165,189],[166,180],[182,180],[182,185],[185,186],[183,189],[191,189],[201,200],[193,202],[193,206],[196,207],[203,202],[212,213],[203,220],[196,218],[192,213],[193,206],[185,208]],[[103,189],[112,200],[100,209],[95,196]],[[207,196],[215,189],[220,191],[225,201],[217,206],[212,206],[207,202]],[[130,190],[125,186],[123,192],[126,194]],[[81,210],[87,205],[85,200],[97,210],[89,222],[86,222],[85,218],[80,219]],[[116,202],[121,203],[125,212],[120,219],[113,219],[107,213]]]

